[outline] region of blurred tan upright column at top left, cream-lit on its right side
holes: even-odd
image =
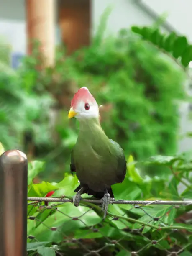
[[[45,66],[53,66],[55,59],[55,0],[26,0],[28,54],[33,40],[41,44]]]

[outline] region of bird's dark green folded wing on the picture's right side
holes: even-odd
[[[110,139],[110,141],[115,146],[117,156],[118,156],[117,178],[119,182],[123,182],[123,180],[125,179],[126,170],[127,170],[127,161],[125,159],[125,155],[121,146],[117,142],[113,141],[112,139]]]

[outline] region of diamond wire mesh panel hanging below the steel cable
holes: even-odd
[[[28,197],[28,242],[50,241],[60,256],[192,255],[192,201],[111,201],[105,220],[100,203]]]

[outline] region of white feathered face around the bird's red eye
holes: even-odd
[[[99,117],[99,108],[97,104],[93,104],[91,102],[86,102],[90,105],[89,110],[85,109],[85,102],[80,101],[77,104],[77,107],[74,111],[77,113],[75,116],[77,119],[86,119],[86,118],[98,118]]]

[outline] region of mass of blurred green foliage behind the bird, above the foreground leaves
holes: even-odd
[[[54,67],[44,68],[35,42],[33,54],[16,72],[8,74],[7,68],[0,74],[0,141],[5,148],[17,146],[44,159],[41,175],[50,180],[61,179],[63,170],[69,172],[77,128],[67,111],[81,86],[103,105],[102,127],[125,154],[144,159],[177,151],[183,73],[128,30],[106,38],[107,18],[108,11],[90,46],[72,56],[62,47],[56,49]]]

